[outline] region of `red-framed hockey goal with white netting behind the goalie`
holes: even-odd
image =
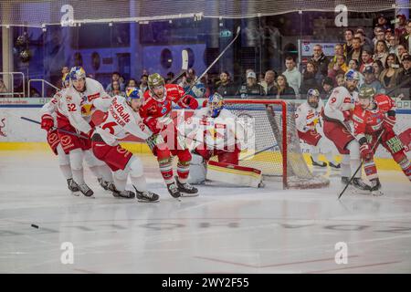
[[[295,126],[296,105],[272,99],[226,99],[226,109],[253,123],[254,150],[242,151],[239,164],[280,180],[284,188],[321,188],[330,181],[310,171],[300,150]],[[214,158],[216,159],[216,158]]]

